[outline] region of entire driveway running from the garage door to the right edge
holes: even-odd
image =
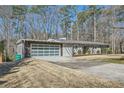
[[[124,83],[124,64],[114,64],[83,59],[79,60],[75,59],[74,57],[44,58],[44,60],[64,67],[85,71],[98,77]]]

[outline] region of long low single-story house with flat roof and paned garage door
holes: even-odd
[[[21,39],[16,45],[17,54],[22,57],[76,56],[88,51],[90,54],[101,54],[101,48],[109,47],[108,44],[100,42],[34,39]]]

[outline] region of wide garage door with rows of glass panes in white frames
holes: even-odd
[[[32,56],[60,56],[60,45],[32,44]]]

